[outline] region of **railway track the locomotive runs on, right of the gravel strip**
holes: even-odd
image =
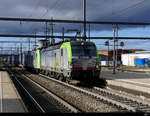
[[[64,86],[67,86],[67,87],[71,87],[72,89],[84,94],[84,95],[88,95],[92,98],[95,98],[101,102],[104,102],[104,103],[107,103],[109,105],[112,105],[113,107],[117,107],[121,112],[125,111],[125,112],[147,112],[149,110],[143,110],[142,108],[143,107],[139,107],[137,108],[136,107],[136,100],[133,100],[133,99],[129,99],[125,96],[117,96],[116,94],[114,93],[111,93],[111,92],[108,92],[104,89],[100,89],[100,88],[94,88],[94,89],[88,89],[88,88],[82,88],[82,87],[75,87],[73,85],[69,85],[67,83],[64,83],[64,82],[61,82],[61,81],[58,81],[58,80],[55,80],[55,79],[52,79],[50,77],[47,77],[45,75],[41,75],[40,76],[46,78],[46,79],[50,79],[52,81],[55,81],[59,84],[62,84]],[[112,98],[113,99],[112,99]],[[119,99],[118,99],[119,98]],[[132,102],[132,104],[129,104],[128,102],[129,101],[134,101]],[[122,102],[121,102],[122,101]],[[128,103],[128,104],[127,104]],[[139,102],[138,102],[139,103]],[[140,102],[138,105],[141,105],[141,106],[144,106],[144,107],[147,107],[148,104],[144,104],[143,102]]]

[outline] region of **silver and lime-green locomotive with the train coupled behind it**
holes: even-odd
[[[98,50],[93,42],[63,41],[48,47],[45,44],[46,41],[39,41],[36,50],[23,53],[21,62],[27,69],[66,82],[106,85],[100,78]]]

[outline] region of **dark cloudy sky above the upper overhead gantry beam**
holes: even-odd
[[[0,0],[0,16],[82,19],[82,2],[83,0]],[[87,0],[87,19],[149,22],[149,6],[149,0]]]

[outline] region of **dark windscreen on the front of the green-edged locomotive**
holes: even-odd
[[[73,45],[73,56],[96,56],[96,47],[94,45]]]

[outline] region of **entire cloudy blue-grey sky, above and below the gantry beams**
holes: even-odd
[[[82,8],[83,0],[0,0],[0,17],[83,20]],[[150,0],[87,0],[88,21],[150,22],[149,12]],[[63,26],[82,30],[82,25],[56,24],[55,31],[60,32]],[[43,23],[0,21],[1,34],[33,33],[35,29],[42,33],[44,28]],[[112,25],[92,25],[91,31],[94,36],[112,36]],[[148,36],[149,27],[120,26],[119,32],[124,32],[120,36]],[[148,48],[147,41],[143,46]],[[133,43],[130,47],[138,48]]]

